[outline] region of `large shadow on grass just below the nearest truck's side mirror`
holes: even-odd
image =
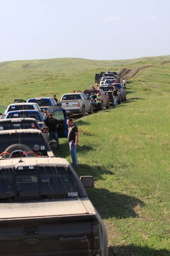
[[[138,198],[110,192],[108,189],[87,188],[88,197],[103,219],[107,218],[136,218],[134,208],[145,204]]]

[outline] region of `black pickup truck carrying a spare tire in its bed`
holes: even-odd
[[[38,129],[15,129],[0,131],[0,157],[54,157],[51,146]],[[1,161],[2,159],[0,159]],[[1,252],[0,252],[1,254]]]

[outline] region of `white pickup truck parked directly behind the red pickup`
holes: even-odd
[[[85,116],[85,113],[93,113],[93,105],[91,100],[87,98],[85,93],[65,93],[61,97],[62,108],[65,109],[67,115],[80,114]]]

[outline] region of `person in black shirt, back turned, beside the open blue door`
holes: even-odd
[[[58,120],[53,118],[53,114],[49,113],[48,118],[45,120],[45,125],[49,128],[49,141],[53,138],[57,141],[57,148],[60,148],[59,139],[58,139]]]

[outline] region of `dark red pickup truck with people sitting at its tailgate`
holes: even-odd
[[[104,107],[110,108],[109,96],[105,95],[102,89],[88,89],[88,90],[84,90],[83,93],[85,93],[87,97],[90,97],[91,93],[94,93],[94,97],[96,97],[97,93],[99,93],[102,98],[101,109],[103,110]],[[98,108],[97,103],[93,104],[93,107]]]

